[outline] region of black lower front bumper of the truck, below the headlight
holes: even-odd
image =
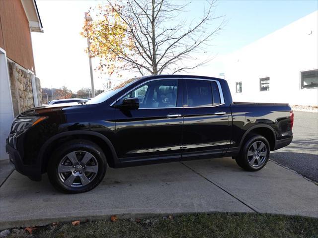
[[[34,181],[40,181],[42,178],[41,175],[41,166],[40,165],[25,165],[23,164],[22,158],[19,152],[14,149],[11,145],[6,144],[5,146],[6,153],[9,154],[10,164],[13,165],[14,169],[22,175],[27,176],[29,179]]]

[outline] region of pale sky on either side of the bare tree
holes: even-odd
[[[90,87],[88,58],[84,52],[86,39],[79,34],[84,21],[84,12],[100,1],[51,1],[37,0],[44,33],[32,33],[36,75],[42,87],[66,86],[76,92]],[[201,15],[202,2],[191,1],[188,15]],[[220,0],[216,15],[225,15],[228,24],[213,41],[210,53],[214,61],[193,73],[206,72],[213,67],[213,75],[222,71],[220,61],[230,54],[267,34],[282,28],[318,9],[317,0]],[[93,61],[95,66],[96,62]],[[206,74],[206,73],[205,73]],[[137,75],[137,74],[136,74]],[[134,75],[131,75],[134,76]],[[95,89],[102,89],[105,76],[94,73]],[[115,82],[115,81],[114,81]]]

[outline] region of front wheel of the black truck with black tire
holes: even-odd
[[[68,156],[67,156],[72,153],[76,154],[76,159],[79,162],[79,167],[76,167],[75,169],[74,169],[75,165],[72,163],[71,160],[68,159]],[[89,161],[87,162],[87,163],[90,163],[90,165],[93,165],[92,167],[86,166],[86,163],[84,164],[86,168],[81,167],[80,165],[81,160],[84,159],[84,155],[86,154],[92,155],[91,159],[89,159]],[[81,160],[79,157],[81,157]],[[87,157],[90,157],[90,156],[87,156]],[[66,161],[66,162],[63,162],[63,161]],[[64,164],[61,164],[61,163],[64,163]],[[58,173],[58,168],[60,166],[64,166],[65,163],[68,163],[67,164],[68,167],[65,167],[65,168],[70,168],[70,170],[78,169],[77,173],[75,173],[75,171]],[[57,190],[63,193],[81,193],[81,192],[87,192],[93,189],[102,181],[106,173],[106,167],[107,167],[106,157],[102,149],[98,145],[88,140],[76,139],[61,145],[53,152],[48,162],[47,172],[48,172],[48,177],[50,182]],[[95,171],[94,172],[85,171],[85,170],[88,170],[88,168],[94,168]],[[75,178],[73,179],[73,181],[79,180],[78,183],[80,184],[73,185],[74,182],[72,181],[71,185],[67,185],[66,180],[68,178],[71,178],[71,176],[74,176],[72,178]],[[85,177],[85,179],[87,179],[90,176],[91,180],[90,179],[86,180],[88,184],[84,184],[83,182],[81,182],[83,176]]]

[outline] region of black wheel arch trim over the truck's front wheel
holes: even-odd
[[[115,148],[111,141],[104,136],[95,131],[66,131],[58,133],[51,138],[49,138],[41,147],[37,161],[41,165],[41,172],[46,172],[47,163],[51,153],[56,149],[60,144],[70,141],[72,139],[86,139],[96,143],[103,150],[107,163],[110,167],[117,168],[120,167],[120,161],[117,157]]]

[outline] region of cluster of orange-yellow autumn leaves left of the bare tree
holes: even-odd
[[[98,5],[88,13],[94,19],[85,20],[81,32],[89,40],[89,56],[100,60],[97,69],[109,75],[125,69],[123,59],[132,57],[135,52],[128,25],[118,14],[122,10],[123,5],[119,3]]]

